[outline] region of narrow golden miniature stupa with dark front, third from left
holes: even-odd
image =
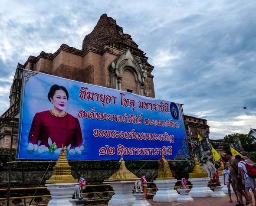
[[[164,154],[161,153],[161,159],[159,160],[159,167],[158,167],[158,177],[156,180],[174,180],[172,177],[171,170],[169,167],[169,163],[164,158]]]

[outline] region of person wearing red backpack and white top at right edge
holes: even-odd
[[[247,168],[246,165],[247,163],[245,162],[245,160],[240,156],[240,155],[236,155],[235,156],[236,161],[238,163],[238,174],[237,174],[237,178],[242,180],[242,183],[244,184],[245,187],[245,192],[250,200],[250,204],[249,206],[253,206],[253,199],[252,196],[249,192],[249,189],[252,189],[253,192],[253,196],[254,196],[254,200],[256,202],[256,182],[255,182],[255,178],[250,177],[248,172],[247,172]],[[256,206],[256,203],[255,203]]]

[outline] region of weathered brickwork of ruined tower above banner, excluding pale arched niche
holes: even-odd
[[[116,21],[106,14],[100,17],[92,33],[85,36],[81,50],[62,44],[53,54],[42,51],[37,57],[30,56],[24,66],[25,69],[112,87],[109,65],[127,49],[130,49],[137,62],[148,71],[144,94],[154,97],[153,76],[151,75],[154,67],[147,62],[148,57],[141,49],[138,49],[131,35],[124,34]],[[132,79],[132,82],[134,80]]]

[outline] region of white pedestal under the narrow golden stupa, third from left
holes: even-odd
[[[157,193],[153,196],[154,202],[175,202],[179,194],[174,190],[177,180],[154,180],[158,187]]]

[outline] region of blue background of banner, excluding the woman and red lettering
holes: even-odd
[[[71,147],[69,148],[69,150],[67,150],[67,158],[69,160],[118,160],[120,159],[119,154],[121,152],[120,149],[118,150],[118,145],[120,144],[128,148],[152,148],[152,150],[144,151],[144,153],[143,150],[141,151],[141,153],[139,153],[138,149],[125,149],[125,151],[121,152],[124,153],[125,160],[159,159],[161,157],[162,149],[164,149],[162,151],[164,152],[166,159],[189,158],[187,136],[185,133],[180,104],[159,100],[156,98],[148,98],[140,95],[135,95],[116,89],[89,85],[82,82],[75,82],[65,78],[47,75],[44,73],[33,73],[31,71],[24,70],[24,74],[25,75],[23,77],[23,93],[20,110],[20,127],[16,158],[57,159],[59,157],[60,148],[54,150],[54,152],[52,153],[49,153],[49,151],[47,151],[49,145],[45,145],[45,147],[42,147],[42,145],[36,146],[28,141],[31,123],[36,112],[46,111],[53,108],[53,105],[49,102],[47,98],[47,94],[49,92],[49,88],[54,84],[62,85],[68,90],[69,100],[66,107],[66,112],[71,114],[75,118],[78,118],[82,130],[83,145],[79,148]],[[95,100],[89,101],[88,99],[81,99],[79,97],[79,90],[81,90],[81,87],[88,88],[86,92],[95,92],[98,94],[115,96],[116,105],[114,105],[112,101],[112,104],[105,103],[105,106],[103,107],[101,101],[97,102]],[[123,96],[124,98],[135,100],[135,111],[132,111],[131,107],[121,106],[120,93],[125,94],[125,96]],[[139,101],[149,102],[158,105],[163,103],[168,104],[169,112],[167,113],[161,111],[151,111],[139,108]],[[172,113],[173,107],[176,109],[176,115]],[[125,116],[125,113],[127,113],[127,116],[129,116],[129,114],[138,116],[143,114],[142,124],[79,118],[79,110],[83,109],[84,111],[92,111],[92,108],[95,108],[95,112],[98,113],[116,114],[121,116]],[[174,122],[175,125],[179,124],[180,128],[145,125],[145,119],[161,121],[169,120],[169,122]],[[132,130],[135,130],[135,132],[138,133],[148,134],[168,133],[169,135],[173,135],[174,138],[173,143],[171,143],[170,141],[153,141],[148,139],[137,140],[121,137],[95,137],[93,132],[94,129],[124,132],[131,132]],[[38,147],[40,147],[40,149]],[[110,149],[108,149],[108,147]],[[156,148],[158,148],[158,150],[155,150]],[[131,155],[131,150],[134,151],[134,155]],[[147,152],[150,155],[146,154]],[[100,155],[100,153],[102,154]]]

